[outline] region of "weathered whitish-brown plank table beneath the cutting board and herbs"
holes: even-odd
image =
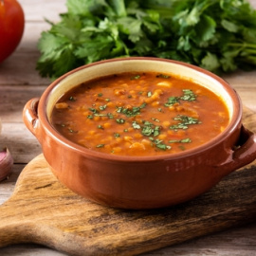
[[[8,146],[14,158],[12,174],[9,179],[0,183],[0,204],[9,199],[17,177],[27,162],[42,153],[37,139],[23,123],[22,110],[29,99],[40,97],[49,84],[49,80],[41,78],[35,70],[39,58],[36,45],[41,32],[49,28],[45,18],[58,21],[59,13],[66,10],[65,0],[19,2],[26,15],[25,33],[16,51],[6,62],[0,64],[0,119],[3,122],[0,149]],[[256,0],[250,2],[256,8]],[[256,70],[237,71],[225,75],[224,78],[237,90],[244,105],[256,112]],[[0,248],[0,255],[64,254],[39,245],[18,245]],[[145,255],[256,255],[256,223],[162,248]]]

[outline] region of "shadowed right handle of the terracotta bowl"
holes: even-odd
[[[231,157],[218,167],[223,168],[226,174],[239,169],[256,159],[256,135],[243,125],[238,140],[238,146],[232,151]]]

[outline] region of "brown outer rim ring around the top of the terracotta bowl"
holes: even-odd
[[[228,92],[231,101],[233,102],[233,114],[232,117],[229,121],[229,125],[225,128],[225,130],[219,134],[216,137],[211,138],[208,142],[192,148],[190,150],[186,150],[183,152],[179,153],[171,153],[171,154],[164,154],[164,155],[111,155],[107,153],[101,153],[98,151],[94,151],[91,149],[87,149],[83,147],[82,145],[79,145],[75,142],[72,142],[68,138],[64,137],[61,135],[50,123],[50,120],[47,117],[46,114],[46,105],[47,101],[54,89],[55,86],[59,84],[59,82],[63,81],[66,77],[69,75],[80,71],[84,68],[88,68],[90,66],[94,65],[100,65],[100,64],[105,64],[109,62],[129,62],[129,61],[155,61],[155,62],[168,62],[172,64],[181,64],[184,66],[187,66],[189,68],[192,68],[195,71],[198,71],[200,73],[204,73],[204,75],[210,76],[211,79],[219,82],[222,84],[222,86],[225,87],[226,91]],[[91,157],[91,158],[101,158],[104,160],[114,160],[118,162],[145,162],[145,161],[157,161],[157,160],[167,160],[167,159],[179,159],[183,158],[184,156],[190,157],[192,155],[197,155],[197,154],[202,154],[202,152],[208,151],[210,148],[216,146],[217,144],[221,143],[224,141],[229,135],[233,133],[234,130],[241,124],[242,120],[242,101],[237,94],[237,92],[231,87],[229,82],[226,82],[224,79],[220,78],[219,76],[215,75],[214,73],[210,72],[209,70],[206,70],[202,67],[193,65],[193,64],[187,64],[175,60],[169,60],[169,59],[163,59],[163,58],[155,58],[155,57],[124,57],[124,58],[115,58],[115,59],[108,59],[108,60],[103,60],[99,62],[95,62],[92,64],[84,64],[82,66],[79,66],[67,73],[65,73],[63,76],[60,78],[56,79],[54,82],[51,82],[46,90],[44,91],[43,95],[40,98],[40,101],[38,103],[38,118],[40,120],[40,124],[44,126],[47,135],[50,135],[53,137],[55,140],[59,141],[61,144],[63,144],[65,147],[71,149],[72,151],[78,152],[86,157]]]

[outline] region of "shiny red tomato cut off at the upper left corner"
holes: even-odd
[[[16,0],[0,0],[0,63],[19,45],[24,25],[20,4]]]

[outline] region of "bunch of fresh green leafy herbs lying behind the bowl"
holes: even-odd
[[[67,0],[39,39],[41,76],[82,64],[153,56],[212,72],[256,66],[256,10],[246,0]]]

